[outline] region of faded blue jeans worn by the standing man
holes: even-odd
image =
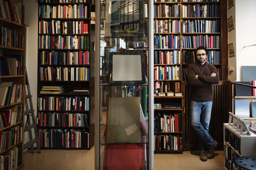
[[[214,146],[214,139],[209,134],[212,101],[191,101],[191,125],[199,136],[199,150]]]

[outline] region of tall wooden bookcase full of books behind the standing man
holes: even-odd
[[[221,12],[223,6],[226,4],[218,0],[154,0],[154,101],[156,107],[159,103],[162,106],[161,109],[155,110],[155,121],[160,117],[163,119],[163,124],[168,125],[170,123],[164,117],[178,114],[180,115],[179,124],[183,126],[179,129],[179,133],[174,134],[169,132],[159,134],[161,129],[155,127],[155,136],[176,135],[182,138],[187,135],[185,134],[185,117],[188,113],[185,113],[183,98],[185,94],[182,93],[183,97],[180,97],[179,102],[177,97],[182,92],[181,84],[187,80],[186,68],[196,60],[195,50],[198,46],[203,45],[207,48],[207,62],[217,67],[221,80],[227,79],[227,56],[225,55],[227,42],[223,40],[225,39],[225,31],[223,32],[225,16]],[[164,104],[172,103],[180,103],[180,108],[172,111],[163,109]],[[183,146],[182,144],[180,143],[180,146]],[[182,149],[180,148],[180,152]],[[161,153],[161,150],[155,150],[155,152]],[[177,151],[167,150],[166,152]]]

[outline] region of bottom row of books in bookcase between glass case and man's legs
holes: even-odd
[[[182,137],[173,135],[154,136],[154,150],[182,150]]]

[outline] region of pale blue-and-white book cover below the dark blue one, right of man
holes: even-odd
[[[250,117],[250,101],[247,99],[235,99],[235,115],[241,118]]]

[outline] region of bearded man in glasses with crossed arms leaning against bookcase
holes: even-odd
[[[216,141],[209,134],[212,110],[212,84],[218,84],[220,77],[215,66],[206,62],[207,51],[204,46],[196,48],[196,63],[187,70],[191,86],[191,125],[199,136],[200,159],[214,158]],[[205,152],[207,151],[207,152]]]

